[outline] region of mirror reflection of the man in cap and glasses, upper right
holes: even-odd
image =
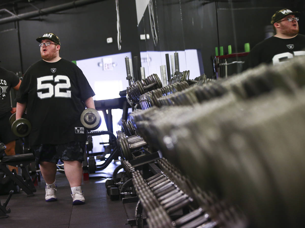
[[[281,9],[271,17],[276,34],[253,47],[243,69],[253,68],[260,63],[279,64],[287,59],[305,54],[305,36],[299,33],[300,12]]]

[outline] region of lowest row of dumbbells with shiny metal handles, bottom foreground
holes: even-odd
[[[239,213],[212,193],[201,191],[166,159],[157,160],[153,176],[145,178],[143,170],[132,172],[132,182],[138,199],[131,226],[143,227],[221,227],[246,223]],[[124,201],[123,201],[124,202]],[[126,202],[135,202],[129,198]],[[143,210],[145,215],[143,215]],[[236,226],[234,226],[236,227]]]

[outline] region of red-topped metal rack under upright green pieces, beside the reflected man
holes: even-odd
[[[243,57],[247,56],[249,52],[239,52],[239,53],[233,53],[233,54],[226,54],[226,55],[217,55],[213,58],[213,67],[214,72],[216,74],[216,79],[221,78],[221,66],[225,66],[225,77],[228,77],[228,65],[231,64],[242,64],[244,61],[233,61],[228,63],[229,58],[237,58],[237,57]],[[224,63],[221,63],[220,60],[224,60]]]

